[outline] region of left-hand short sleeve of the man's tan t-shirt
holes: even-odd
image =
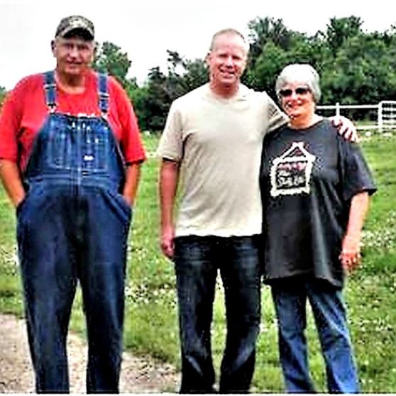
[[[160,138],[157,155],[160,158],[179,162],[183,156],[182,120],[177,101],[170,106],[163,135]]]

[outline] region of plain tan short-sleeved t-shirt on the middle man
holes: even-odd
[[[180,162],[176,236],[261,232],[263,136],[285,121],[268,94],[244,85],[223,99],[205,84],[172,103],[158,155]]]

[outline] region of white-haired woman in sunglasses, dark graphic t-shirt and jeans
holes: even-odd
[[[358,144],[315,113],[319,75],[288,65],[276,82],[287,126],[265,138],[260,182],[264,279],[271,286],[288,392],[313,392],[306,302],[312,307],[329,392],[359,392],[342,288],[361,258],[361,229],[375,192]]]

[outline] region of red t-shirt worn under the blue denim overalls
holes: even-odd
[[[113,77],[109,77],[108,121],[119,141],[125,162],[138,163],[145,160],[138,122],[126,92]],[[87,73],[82,94],[68,94],[56,88],[56,111],[77,116],[95,114],[100,116],[98,106],[97,74]],[[18,163],[26,168],[33,142],[48,116],[45,104],[43,75],[22,79],[9,93],[0,115],[0,158]]]

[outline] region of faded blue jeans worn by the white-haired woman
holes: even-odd
[[[319,334],[329,392],[359,392],[341,290],[324,281],[296,277],[272,285],[272,293],[287,392],[314,392],[304,336],[307,299]]]

